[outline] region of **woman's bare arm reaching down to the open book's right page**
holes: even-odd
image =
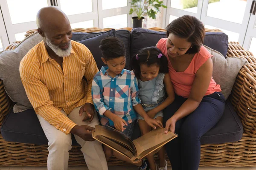
[[[195,80],[189,98],[180,106],[176,113],[166,122],[166,129],[175,131],[175,123],[183,117],[189,115],[198,108],[204,95],[209,88],[212,78],[212,59],[209,58],[195,74]]]

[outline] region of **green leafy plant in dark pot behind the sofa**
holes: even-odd
[[[133,28],[142,27],[143,16],[148,15],[148,17],[155,19],[157,12],[160,12],[160,7],[167,8],[160,0],[131,0],[129,14],[134,12],[137,14],[136,17],[132,17]]]

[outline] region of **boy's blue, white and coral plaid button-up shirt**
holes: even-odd
[[[121,74],[112,78],[107,72],[108,66],[103,66],[93,78],[92,98],[96,111],[102,117],[105,125],[113,122],[104,116],[106,110],[118,115],[127,123],[137,119],[133,106],[140,104],[138,80],[132,71],[123,69]]]

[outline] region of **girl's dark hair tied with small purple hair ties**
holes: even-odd
[[[162,54],[161,58],[158,58],[159,54]],[[134,74],[137,77],[137,79],[140,79],[140,65],[141,64],[157,64],[159,65],[159,73],[168,73],[168,60],[166,56],[162,53],[160,49],[157,47],[146,47],[142,48],[138,52],[138,57],[134,55],[131,59],[131,64],[134,70]]]

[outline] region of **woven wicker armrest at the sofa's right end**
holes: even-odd
[[[249,64],[244,65],[236,77],[231,101],[241,118],[244,133],[256,137],[256,57],[238,42],[230,42],[227,57],[243,57]]]

